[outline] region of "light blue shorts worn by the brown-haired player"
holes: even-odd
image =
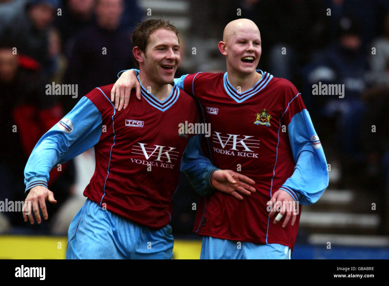
[[[69,226],[67,259],[172,259],[172,227],[151,230],[86,200]]]

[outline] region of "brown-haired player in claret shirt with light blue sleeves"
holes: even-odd
[[[180,61],[177,34],[168,21],[141,23],[133,33],[133,55],[142,90],[149,91],[142,93],[144,100],[134,97],[131,109],[116,111],[107,97],[112,84],[93,89],[39,140],[28,159],[26,202],[32,202],[40,223],[39,205],[47,219],[45,199],[56,202],[47,189],[51,168],[95,146],[95,173],[68,230],[67,258],[172,258],[168,223],[181,158],[203,195],[213,191],[211,178],[237,198],[242,197],[235,189],[255,191],[249,185],[254,181],[243,175],[215,171],[201,153],[200,134],[179,133],[180,123],[197,123],[199,113],[195,99],[170,84]],[[31,214],[28,218],[34,223]]]

